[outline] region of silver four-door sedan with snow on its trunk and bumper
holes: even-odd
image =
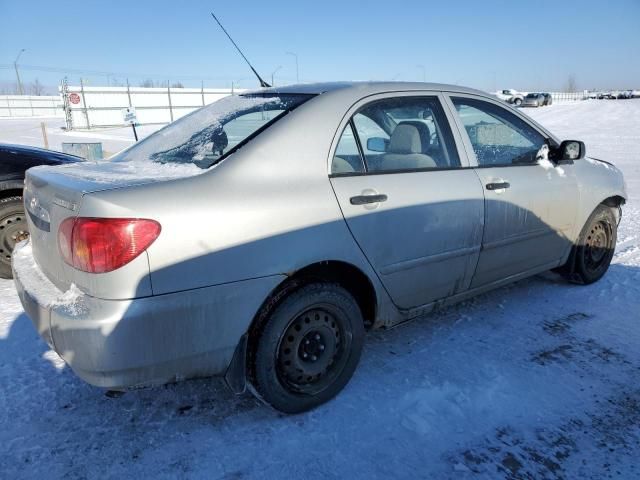
[[[367,328],[548,269],[598,280],[624,202],[614,166],[482,92],[292,86],[29,170],[13,269],[94,385],[223,374],[300,412],[346,385]]]

